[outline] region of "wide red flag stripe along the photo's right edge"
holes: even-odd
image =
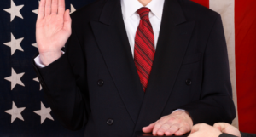
[[[235,0],[239,128],[256,134],[256,1]]]

